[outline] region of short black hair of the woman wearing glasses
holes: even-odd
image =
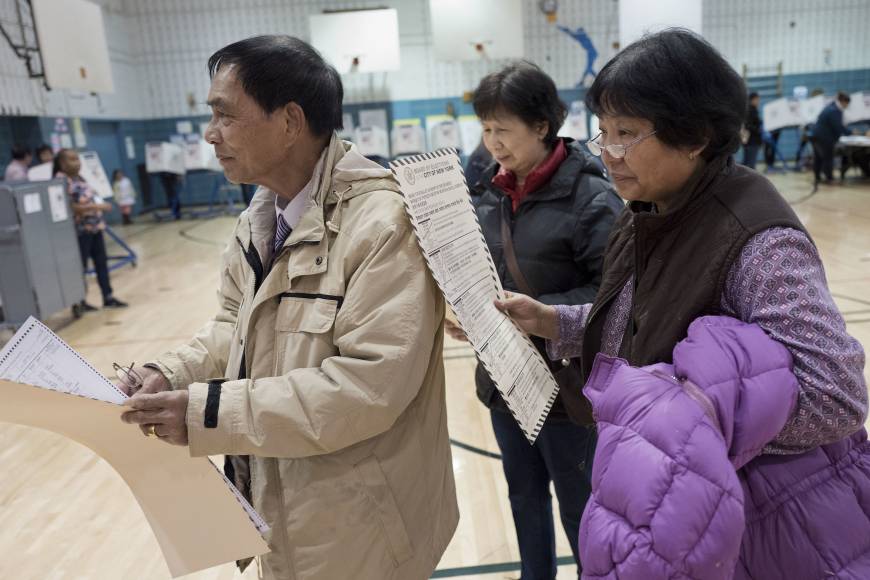
[[[734,153],[747,109],[740,75],[706,40],[670,28],[644,36],[608,62],[586,93],[596,115],[639,117],[671,147],[699,147],[710,160]]]

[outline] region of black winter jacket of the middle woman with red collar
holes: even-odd
[[[583,147],[565,140],[568,157],[549,183],[532,192],[512,211],[511,199],[493,185],[499,166],[493,164],[472,187],[472,202],[505,290],[519,292],[502,251],[501,207],[511,216],[514,248],[528,283],[545,304],[592,302],[601,284],[604,249],[610,230],[623,210],[599,161]],[[544,341],[533,339],[538,349]],[[551,368],[556,368],[556,364]],[[478,398],[490,408],[507,412],[495,384],[478,364],[475,373]],[[578,385],[578,388],[580,385]],[[557,398],[550,416],[567,418]]]

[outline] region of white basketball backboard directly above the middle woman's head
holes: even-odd
[[[523,58],[522,0],[430,0],[429,14],[439,60]]]

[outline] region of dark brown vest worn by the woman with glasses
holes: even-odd
[[[773,185],[733,158],[714,159],[665,214],[630,203],[604,256],[604,277],[583,338],[584,381],[601,349],[604,321],[634,274],[631,315],[620,356],[635,366],[672,362],[689,324],[720,310],[725,279],[746,242],[771,227],[806,233]]]

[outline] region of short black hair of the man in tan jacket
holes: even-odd
[[[208,59],[211,77],[234,65],[242,88],[266,113],[296,103],[318,137],[342,128],[341,76],[311,45],[286,35],[254,36]]]

